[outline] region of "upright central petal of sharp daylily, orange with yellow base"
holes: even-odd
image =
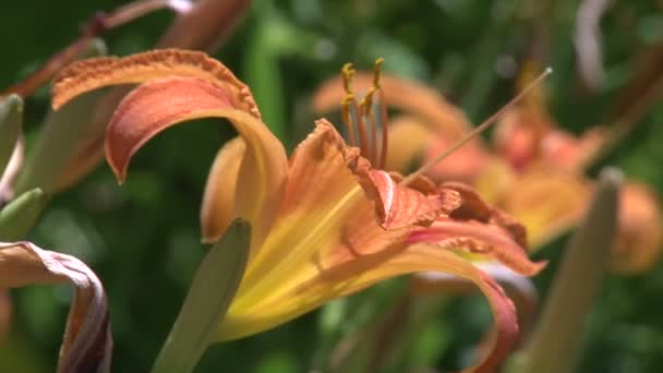
[[[348,165],[357,163],[351,157],[357,152],[346,149],[336,130],[322,121],[294,151],[276,224],[249,263],[219,338],[272,328],[334,298],[330,292],[298,294],[320,275],[323,263],[338,255],[337,248],[363,254],[403,237],[405,231],[378,225],[374,204]]]

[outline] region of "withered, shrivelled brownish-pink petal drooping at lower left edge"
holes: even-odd
[[[29,242],[0,243],[0,288],[70,282],[69,312],[58,372],[109,372],[112,337],[108,303],[97,276],[77,258]]]

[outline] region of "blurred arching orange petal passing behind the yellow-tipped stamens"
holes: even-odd
[[[355,72],[352,75],[352,86],[360,92],[367,92],[373,86],[373,74]],[[433,88],[385,73],[379,79],[379,86],[389,107],[420,117],[435,131],[445,133],[453,140],[462,137],[472,129],[465,113]],[[313,110],[317,113],[336,110],[345,96],[341,77],[330,79],[313,94]]]

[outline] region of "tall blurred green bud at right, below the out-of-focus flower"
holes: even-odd
[[[508,372],[565,373],[574,369],[616,233],[620,184],[618,170],[601,172],[589,212],[566,248],[541,318]]]

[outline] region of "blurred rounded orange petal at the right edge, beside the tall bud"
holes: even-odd
[[[644,184],[628,183],[619,196],[617,242],[611,268],[639,273],[656,263],[661,254],[662,217],[659,202]]]

